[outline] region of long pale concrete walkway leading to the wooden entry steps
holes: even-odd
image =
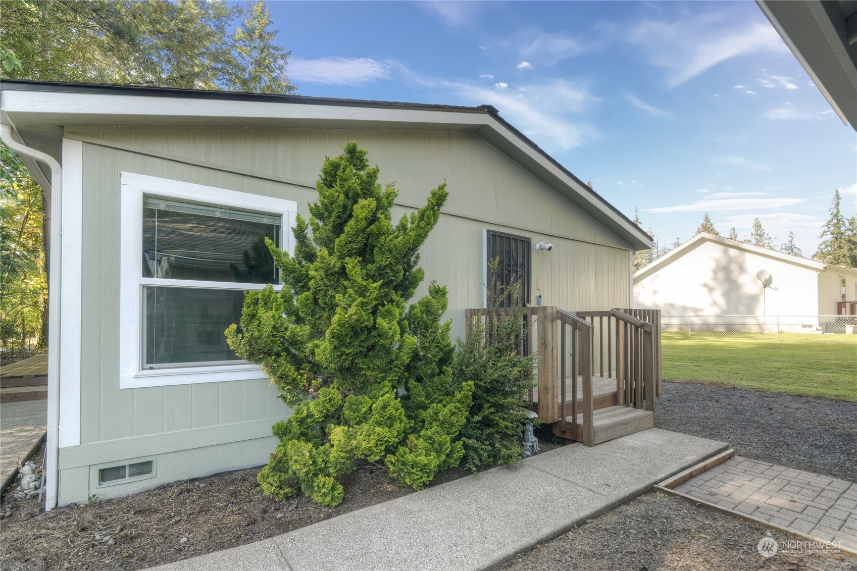
[[[484,569],[728,448],[650,429],[572,444],[255,544],[157,569]]]

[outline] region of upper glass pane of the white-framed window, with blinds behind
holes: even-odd
[[[275,214],[146,196],[143,276],[277,284],[269,237],[280,246]]]

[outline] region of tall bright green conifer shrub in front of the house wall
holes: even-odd
[[[297,216],[294,255],[267,240],[282,292],[248,292],[241,333],[226,330],[237,355],[261,364],[295,406],[273,427],[280,442],[259,474],[262,489],[278,500],[302,490],[327,506],[342,501],[338,480],[361,461],[385,459],[394,479],[417,490],[458,464],[464,449],[454,441],[473,391],[452,382],[451,324],[440,323],[446,287],[432,282],[407,305],[446,183],[393,225],[398,191],[381,189],[357,143],[344,148],[321,167],[309,222]]]

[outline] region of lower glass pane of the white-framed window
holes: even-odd
[[[144,287],[143,298],[143,369],[238,360],[224,331],[241,319],[241,290]]]

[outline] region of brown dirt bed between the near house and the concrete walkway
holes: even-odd
[[[540,435],[542,453],[557,445]],[[42,450],[33,455],[40,462]],[[410,494],[386,472],[363,466],[345,477],[345,499],[325,508],[309,498],[262,496],[259,468],[164,484],[103,502],[42,512],[39,501],[4,493],[0,569],[141,569],[271,538],[340,514]],[[469,475],[448,470],[432,485]],[[5,490],[4,490],[5,491]]]

